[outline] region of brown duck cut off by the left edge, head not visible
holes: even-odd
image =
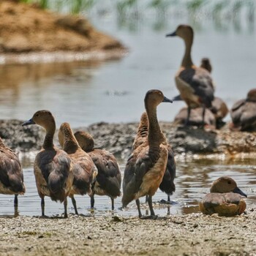
[[[15,195],[14,206],[18,207],[18,195],[25,193],[23,171],[18,155],[4,145],[0,138],[0,193]]]

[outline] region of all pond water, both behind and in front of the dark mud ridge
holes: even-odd
[[[126,20],[125,26],[116,22],[115,15],[91,15],[91,21],[100,30],[121,39],[129,54],[114,61],[83,61],[56,64],[8,64],[0,68],[0,116],[26,120],[39,109],[51,110],[57,126],[68,121],[80,127],[99,121],[138,121],[144,110],[143,98],[148,89],[160,89],[165,96],[178,94],[174,75],[181,63],[184,45],[181,39],[165,38],[179,23],[195,27],[192,58],[195,64],[209,57],[213,64],[216,95],[230,107],[236,100],[246,97],[255,87],[256,32],[253,24],[241,20],[214,23],[207,17],[189,20],[189,17],[170,17],[158,29],[155,24],[139,19]],[[236,21],[236,20],[235,20]],[[239,25],[239,26],[238,26]],[[183,102],[162,104],[159,119],[172,121]],[[230,120],[228,116],[227,121]],[[121,170],[124,162],[119,160]],[[40,200],[32,170],[32,160],[23,162],[26,195],[19,197],[19,214],[39,216]],[[247,206],[255,202],[255,160],[250,161],[188,161],[177,163],[176,192],[170,207],[159,204],[166,195],[158,191],[154,196],[156,214],[191,213],[198,211],[198,202],[219,176],[233,177],[248,195]],[[91,214],[88,196],[76,196],[78,211]],[[143,198],[141,202],[143,203]],[[95,197],[95,215],[111,214],[110,199]],[[137,215],[135,202],[129,210],[121,211],[121,198],[116,199],[116,214]],[[71,200],[69,213],[74,212]],[[146,205],[143,204],[143,214]],[[0,215],[12,216],[13,196],[0,195]],[[45,200],[45,214],[63,213],[63,205]]]

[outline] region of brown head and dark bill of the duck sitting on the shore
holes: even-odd
[[[236,181],[233,180],[233,178],[230,177],[220,177],[214,183],[211,185],[210,189],[211,193],[228,193],[228,192],[234,192],[240,195],[243,195],[244,197],[247,197],[247,195],[241,191],[237,187]]]

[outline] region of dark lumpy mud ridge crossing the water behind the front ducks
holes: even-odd
[[[43,142],[45,132],[37,125],[22,127],[20,120],[0,120],[0,136],[7,146],[26,154],[38,151]],[[162,131],[173,147],[176,157],[193,158],[255,158],[256,133],[231,132],[227,126],[222,129],[198,129],[182,127],[172,122],[160,122]],[[105,122],[91,124],[89,127],[72,127],[74,132],[84,130],[89,132],[95,141],[95,146],[127,159],[132,151],[138,123],[108,124]],[[57,132],[56,146],[59,145]]]

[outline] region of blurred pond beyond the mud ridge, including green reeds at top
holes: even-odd
[[[57,126],[139,121],[148,89],[178,94],[174,75],[184,43],[165,38],[180,23],[195,30],[192,59],[208,57],[216,95],[230,107],[255,87],[254,0],[44,0],[42,8],[84,15],[100,31],[129,49],[122,59],[0,65],[1,118],[30,118],[48,109]],[[23,1],[23,2],[24,2]],[[184,102],[159,106],[162,121],[172,121]],[[229,116],[226,118],[230,119]]]

